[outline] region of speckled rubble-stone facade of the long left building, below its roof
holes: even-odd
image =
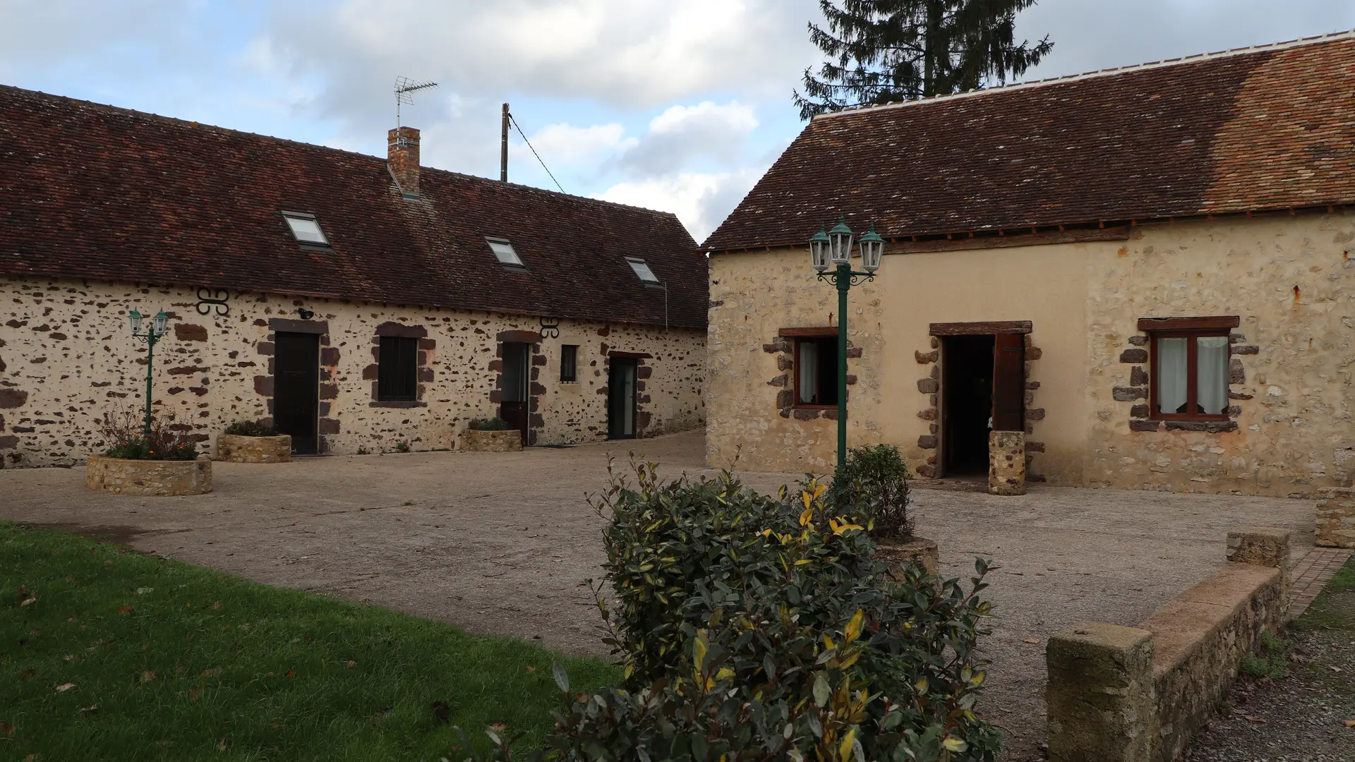
[[[270,334],[301,320],[325,323],[320,418],[327,452],[453,447],[473,418],[493,416],[491,363],[504,331],[539,332],[537,317],[421,309],[373,302],[237,293],[201,302],[196,289],[8,277],[0,281],[0,461],[69,465],[102,449],[99,419],[114,404],[138,408],[145,395],[145,346],[127,312],[169,313],[156,346],[154,404],[173,426],[211,442],[240,419],[271,416]],[[199,312],[199,308],[202,310]],[[205,312],[205,313],[203,313]],[[282,328],[276,328],[282,325]],[[421,399],[393,407],[374,400],[378,329],[421,331]],[[648,354],[640,395],[644,435],[705,423],[705,332],[652,325],[558,321],[539,340],[533,367],[539,395],[537,442],[579,443],[607,435],[607,362],[617,351]],[[575,384],[560,382],[560,347],[577,344]]]

